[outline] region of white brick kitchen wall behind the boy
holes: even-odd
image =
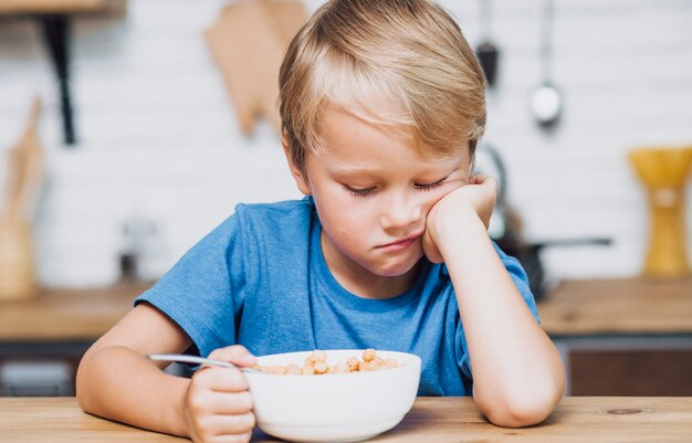
[[[478,3],[442,1],[472,45]],[[0,20],[0,154],[21,134],[32,95],[45,103],[49,178],[36,224],[43,284],[115,281],[120,224],[135,213],[157,223],[165,268],[235,203],[298,196],[272,128],[262,124],[245,138],[235,124],[202,39],[222,4],[130,0],[125,20],[75,20],[75,149],[62,146],[55,85],[35,24]],[[306,4],[312,11],[321,1]],[[549,136],[528,112],[539,83],[539,4],[493,2],[502,59],[485,141],[504,156],[510,199],[530,240],[615,241],[546,251],[553,278],[633,275],[647,212],[626,152],[692,143],[692,1],[556,0],[554,74],[566,108]],[[689,224],[691,208],[688,192]]]

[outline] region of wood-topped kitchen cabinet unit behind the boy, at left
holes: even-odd
[[[86,349],[150,285],[42,288],[32,298],[1,302],[0,395],[73,394],[74,375]]]

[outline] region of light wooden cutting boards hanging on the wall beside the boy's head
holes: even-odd
[[[205,32],[243,134],[252,134],[262,117],[281,133],[279,70],[305,18],[296,1],[247,0],[223,8]]]

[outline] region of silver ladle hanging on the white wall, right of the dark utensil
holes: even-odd
[[[544,129],[553,128],[563,110],[563,97],[553,83],[553,0],[543,0],[541,7],[541,72],[542,85],[531,97],[534,118]]]

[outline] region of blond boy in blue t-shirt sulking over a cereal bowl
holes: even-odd
[[[471,175],[483,73],[424,0],[335,0],[281,74],[283,146],[306,198],[239,205],[85,355],[84,410],[196,442],[245,442],[240,371],[166,375],[148,352],[401,350],[421,395],[471,395],[495,424],[543,421],[564,373],[526,276],[486,226],[496,181]]]

